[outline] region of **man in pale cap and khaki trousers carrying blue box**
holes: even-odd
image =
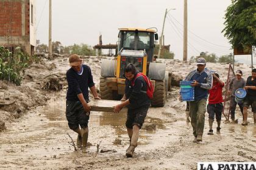
[[[208,90],[212,88],[213,84],[212,73],[210,70],[205,69],[205,59],[198,58],[196,66],[197,69],[192,70],[185,78],[185,81],[194,81],[191,84],[191,86],[194,87],[194,101],[190,101],[190,118],[194,135],[193,142],[202,141],[206,100],[208,97]]]

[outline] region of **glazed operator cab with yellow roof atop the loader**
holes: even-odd
[[[154,39],[158,36],[152,29],[119,29],[118,52],[124,50],[145,50],[148,62],[153,61]]]

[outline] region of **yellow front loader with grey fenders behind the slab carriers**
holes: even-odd
[[[121,28],[118,33],[118,56],[101,63],[100,94],[102,99],[119,100],[125,92],[124,69],[134,64],[147,75],[155,86],[151,106],[165,105],[169,73],[166,64],[153,63],[154,41],[158,35],[154,29]]]

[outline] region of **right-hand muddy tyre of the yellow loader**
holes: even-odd
[[[165,82],[155,81],[155,91],[151,100],[152,107],[163,107],[165,106]]]

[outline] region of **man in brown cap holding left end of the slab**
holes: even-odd
[[[98,97],[94,86],[90,67],[82,64],[82,60],[76,54],[69,56],[69,64],[71,68],[66,72],[66,80],[68,81],[66,119],[69,128],[78,134],[77,146],[82,147],[82,152],[86,152],[88,120],[91,109],[87,104],[89,102],[88,87],[95,99],[101,98]]]

